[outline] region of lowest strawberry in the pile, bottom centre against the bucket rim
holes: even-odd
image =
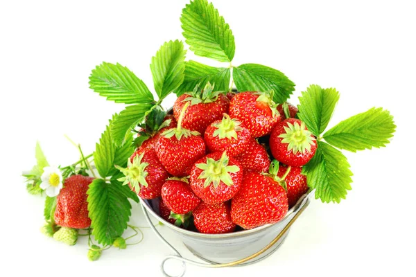
[[[213,205],[202,202],[193,211],[193,224],[200,233],[231,233],[236,229],[231,220],[229,202]]]

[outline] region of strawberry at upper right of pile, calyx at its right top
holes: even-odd
[[[255,138],[270,134],[280,121],[277,104],[270,93],[241,92],[229,103],[229,116],[239,119]]]

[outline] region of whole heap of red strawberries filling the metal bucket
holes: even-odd
[[[270,93],[197,86],[119,168],[123,181],[143,199],[160,197],[165,220],[200,233],[278,222],[308,190],[302,166],[317,145],[296,113]]]

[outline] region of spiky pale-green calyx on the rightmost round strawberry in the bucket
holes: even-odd
[[[292,151],[293,154],[301,152],[304,154],[307,151],[311,151],[311,145],[315,138],[312,133],[306,129],[306,125],[302,122],[295,122],[295,124],[289,123],[288,126],[284,126],[286,133],[280,134],[279,138],[282,138],[281,143],[288,143],[288,151]]]

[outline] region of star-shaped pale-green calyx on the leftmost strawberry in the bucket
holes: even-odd
[[[145,186],[146,188],[148,187],[148,183],[146,181],[146,176],[148,175],[148,172],[145,169],[146,166],[148,166],[149,164],[141,162],[143,156],[144,153],[136,155],[135,158],[133,158],[133,162],[130,160],[130,158],[128,158],[127,168],[115,166],[118,170],[123,172],[123,175],[125,175],[125,177],[121,177],[117,180],[122,181],[123,186],[130,183],[132,188],[135,189],[136,193],[139,193],[140,185]]]

